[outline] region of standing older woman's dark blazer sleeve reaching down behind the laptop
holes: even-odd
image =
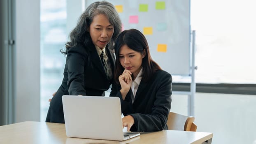
[[[70,95],[86,95],[84,88],[84,68],[88,55],[83,47],[69,49],[67,53],[67,87]]]

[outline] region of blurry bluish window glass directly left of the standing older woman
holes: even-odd
[[[40,8],[40,121],[45,121],[49,108],[48,99],[57,91],[63,79],[65,56],[60,53],[60,49],[65,47],[67,41],[66,0],[41,0]]]

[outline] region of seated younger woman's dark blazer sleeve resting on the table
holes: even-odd
[[[166,123],[172,102],[172,76],[166,72],[163,77],[158,79],[157,85],[156,95],[151,95],[152,97],[156,97],[154,106],[152,107],[152,113],[128,114],[133,116],[135,122],[130,129],[131,131],[150,132],[167,128]],[[147,105],[145,105],[145,107],[147,107]]]

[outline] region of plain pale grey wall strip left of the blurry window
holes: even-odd
[[[15,122],[40,121],[40,0],[16,0]]]

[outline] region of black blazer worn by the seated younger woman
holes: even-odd
[[[124,116],[133,116],[135,123],[131,131],[150,132],[168,129],[166,123],[172,102],[171,74],[158,70],[147,83],[141,81],[133,103],[132,91],[130,90],[123,100],[120,89],[120,85],[112,84],[110,96],[120,98]]]

